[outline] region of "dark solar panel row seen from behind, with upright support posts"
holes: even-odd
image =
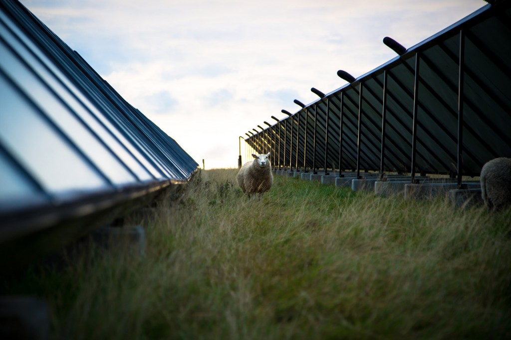
[[[339,71],[349,84],[246,142],[280,169],[478,176],[511,157],[510,7],[486,5],[357,79]]]

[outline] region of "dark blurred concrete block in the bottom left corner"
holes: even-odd
[[[48,305],[33,297],[0,297],[0,338],[46,340],[50,330]]]

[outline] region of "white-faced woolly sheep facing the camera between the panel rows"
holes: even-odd
[[[262,155],[254,155],[253,161],[246,162],[238,173],[238,184],[243,193],[248,196],[259,193],[259,199],[263,197],[263,193],[268,191],[273,185],[273,174],[271,173],[271,163],[268,157],[270,153]]]

